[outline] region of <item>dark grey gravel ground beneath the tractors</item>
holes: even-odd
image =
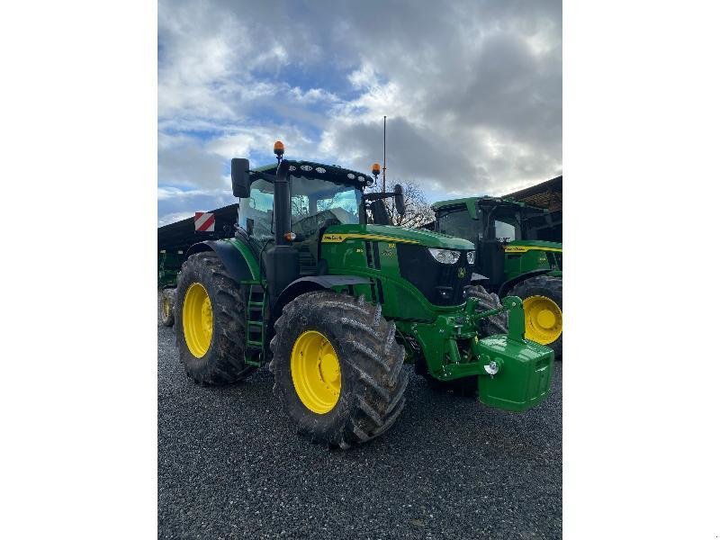
[[[296,435],[266,368],[196,386],[159,325],[157,356],[160,538],[562,536],[562,363],[521,414],[412,374],[395,425],[342,452]]]

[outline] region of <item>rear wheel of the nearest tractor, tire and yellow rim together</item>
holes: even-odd
[[[195,383],[235,383],[255,371],[245,364],[247,287],[229,276],[213,251],[187,257],[175,298],[175,345]]]

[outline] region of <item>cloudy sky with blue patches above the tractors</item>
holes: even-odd
[[[158,221],[234,202],[231,157],[414,180],[429,201],[562,174],[562,2],[165,1]]]

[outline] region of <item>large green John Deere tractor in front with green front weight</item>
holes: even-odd
[[[473,244],[390,227],[368,177],[288,161],[249,170],[232,159],[240,198],[235,238],[190,247],[177,278],[175,336],[196,383],[246,378],[269,362],[275,396],[311,440],[347,448],[381,435],[401,413],[409,372],[470,380],[505,410],[544,401],[554,354],[523,337],[516,297],[489,310],[464,298]],[[373,221],[373,222],[371,222]],[[478,335],[509,312],[507,334]]]

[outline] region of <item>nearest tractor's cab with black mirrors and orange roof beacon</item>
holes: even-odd
[[[320,257],[320,238],[326,229],[365,225],[371,219],[379,224],[387,216],[385,198],[394,197],[401,213],[405,209],[400,185],[391,193],[365,194],[365,187],[374,184],[370,175],[284,159],[281,141],[275,143],[275,155],[276,166],[255,170],[245,158],[231,161],[233,194],[240,199],[238,234],[247,237],[266,266],[271,304],[299,277],[327,273]],[[375,179],[378,172],[374,167]]]

